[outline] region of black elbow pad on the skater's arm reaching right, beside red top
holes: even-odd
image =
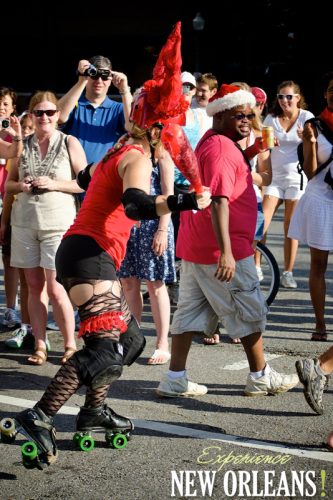
[[[156,196],[149,195],[142,189],[128,188],[121,198],[125,214],[129,219],[157,219]]]

